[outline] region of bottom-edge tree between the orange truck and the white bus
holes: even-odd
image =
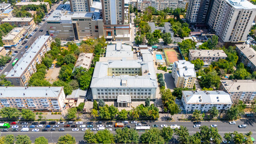
[[[129,128],[118,128],[115,131],[115,142],[116,143],[139,143],[138,131]]]

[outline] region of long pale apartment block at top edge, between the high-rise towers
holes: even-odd
[[[134,4],[135,2],[133,2],[132,4]],[[136,8],[138,9],[138,11],[145,11],[147,7],[153,7],[156,8],[156,10],[160,11],[160,10],[164,10],[166,8],[172,8],[172,9],[176,9],[176,8],[183,8],[186,9],[186,5],[187,5],[188,1],[187,0],[165,0],[165,1],[160,1],[160,0],[145,0],[145,1],[137,1],[136,3]]]

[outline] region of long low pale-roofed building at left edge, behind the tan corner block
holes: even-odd
[[[23,26],[30,26],[31,28],[34,28],[35,22],[33,17],[11,17],[11,18],[5,18],[1,21],[1,23],[9,23],[10,25],[23,27]]]

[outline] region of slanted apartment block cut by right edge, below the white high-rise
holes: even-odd
[[[237,55],[239,61],[246,67],[249,67],[251,71],[256,71],[256,52],[252,47],[247,44],[236,44]]]

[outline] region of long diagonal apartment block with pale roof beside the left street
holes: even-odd
[[[39,36],[22,58],[17,61],[5,79],[14,86],[27,86],[30,77],[37,71],[36,64],[40,64],[44,54],[50,50],[51,39],[50,36]]]

